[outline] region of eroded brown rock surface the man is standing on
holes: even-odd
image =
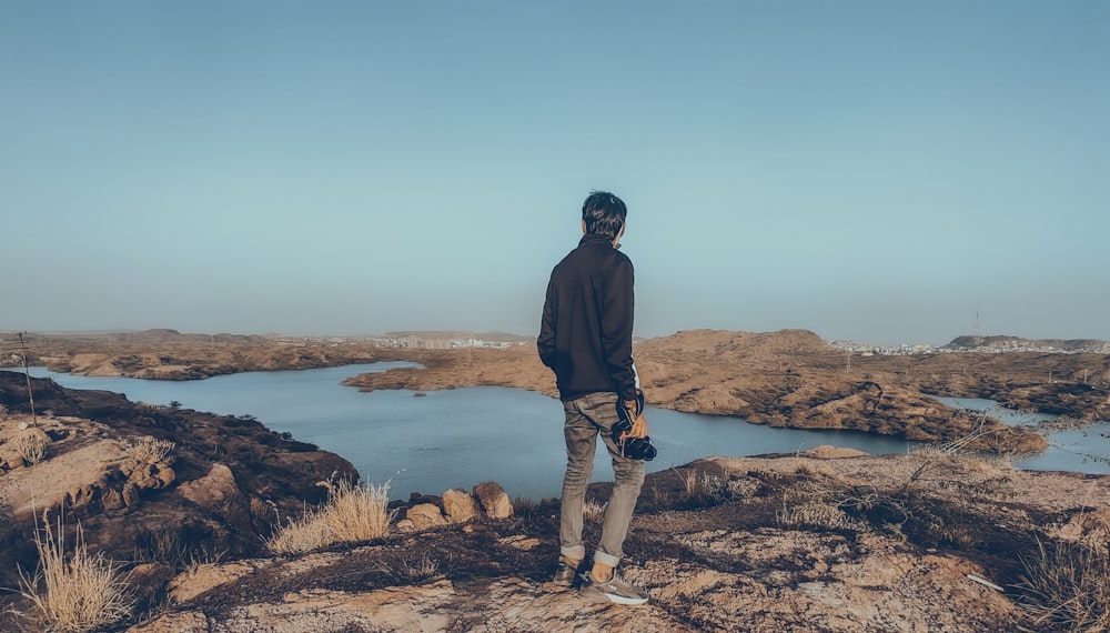
[[[692,490],[690,481],[700,483]],[[606,492],[591,489],[595,499]],[[862,494],[925,523],[959,518],[966,532],[924,523],[899,532],[867,512],[833,528],[816,512],[784,512]],[[173,581],[165,612],[132,631],[1038,630],[1016,602],[1018,556],[1053,530],[1104,537],[1107,508],[1110,478],[938,452],[717,458],[648,476],[622,565],[652,594],[644,606],[589,602],[547,582],[558,506],[541,503],[511,520],[441,524],[346,551],[201,565]],[[587,542],[597,531],[587,520]]]

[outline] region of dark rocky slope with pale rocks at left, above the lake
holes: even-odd
[[[42,513],[131,562],[262,553],[259,535],[357,476],[350,462],[251,418],[153,408],[0,371],[0,586],[33,570]],[[38,454],[29,445],[39,446]],[[0,630],[7,630],[0,626]]]

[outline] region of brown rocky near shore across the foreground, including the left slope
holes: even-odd
[[[130,573],[139,609],[119,630],[1048,631],[1020,605],[1031,600],[1022,560],[1039,560],[1040,545],[1098,551],[1110,539],[1106,476],[1022,472],[935,450],[710,458],[649,475],[623,572],[652,602],[620,607],[547,582],[555,500],[448,520],[445,491],[415,500],[432,505],[437,525],[272,556],[261,547],[270,509],[293,515],[297,499],[319,501],[315,482],[345,462],[287,446],[249,420],[149,411],[48,381],[34,388],[49,413],[30,426],[21,381],[0,379],[2,569],[33,567],[33,509],[64,499],[90,549]],[[141,464],[133,438],[168,428],[174,459]],[[31,429],[50,439],[44,458],[17,464],[9,449]],[[223,451],[206,455],[215,445]],[[122,492],[129,483],[134,496]],[[595,484],[591,496],[602,504],[607,493]],[[395,525],[407,524],[403,514]],[[592,516],[588,542],[598,529]],[[28,610],[14,594],[2,602]],[[20,622],[11,611],[3,617],[3,630]]]

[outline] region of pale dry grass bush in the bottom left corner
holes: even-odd
[[[34,533],[38,570],[33,576],[20,570],[21,593],[33,606],[31,614],[22,614],[28,623],[41,631],[84,632],[128,617],[134,600],[128,592],[127,575],[102,553],[89,554],[81,525],[69,557],[61,516],[57,535],[46,514],[42,525]]]

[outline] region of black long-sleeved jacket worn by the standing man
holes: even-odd
[[[602,235],[583,237],[552,271],[536,345],[561,400],[598,391],[636,399],[633,278],[632,260]]]

